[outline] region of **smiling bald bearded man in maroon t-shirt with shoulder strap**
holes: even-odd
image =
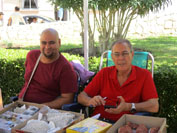
[[[45,104],[60,109],[73,102],[77,92],[77,77],[71,64],[59,52],[61,41],[54,29],[45,29],[40,36],[40,50],[31,50],[25,62],[25,83],[19,94],[24,101]],[[33,68],[39,64],[26,90]]]

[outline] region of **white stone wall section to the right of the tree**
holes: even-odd
[[[177,36],[177,1],[165,10],[138,17],[130,25],[128,37]]]

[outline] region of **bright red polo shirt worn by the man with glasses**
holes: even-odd
[[[158,98],[151,73],[137,66],[132,66],[132,72],[127,81],[120,86],[117,80],[115,66],[106,67],[99,71],[84,91],[91,97],[101,95],[107,97],[106,104],[115,105],[117,96],[122,96],[128,103],[138,103],[151,98]],[[93,115],[101,113],[102,118],[118,120],[123,114],[109,114],[104,111],[103,106],[95,108]]]

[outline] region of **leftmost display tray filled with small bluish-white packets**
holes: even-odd
[[[0,111],[0,131],[10,132],[12,128],[36,117],[42,104],[16,101]]]

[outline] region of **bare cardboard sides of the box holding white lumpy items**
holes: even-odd
[[[58,131],[56,131],[55,133],[65,133],[66,132],[66,128],[72,126],[73,124],[81,121],[84,119],[84,114],[80,114],[80,113],[76,113],[76,112],[71,112],[71,111],[64,111],[64,110],[59,110],[60,112],[68,112],[68,113],[72,113],[74,114],[76,117],[75,117],[75,120],[70,124],[68,125],[67,127],[63,128],[63,129],[60,129]],[[38,116],[35,115],[32,119],[37,119]],[[28,133],[26,131],[23,131],[21,130],[21,128],[23,128],[26,124],[27,124],[28,121],[25,121],[24,123],[12,128],[12,133]]]

